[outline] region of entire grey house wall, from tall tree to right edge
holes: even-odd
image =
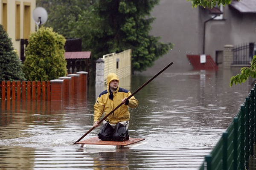
[[[172,42],[175,47],[147,71],[160,70],[167,62],[174,62],[172,69],[191,70],[186,54],[203,54],[203,46],[205,54],[216,61],[216,53],[221,54],[224,45],[256,41],[256,14],[239,14],[227,5],[223,12],[224,20],[206,23],[204,45],[204,22],[211,18],[209,11],[202,7],[192,8],[187,0],[160,0],[151,12],[156,20],[150,34],[161,37],[160,42]]]

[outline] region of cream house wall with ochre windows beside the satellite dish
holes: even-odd
[[[3,14],[3,4],[7,5],[6,31],[12,39],[17,54],[20,56],[20,39],[26,39],[30,33],[35,32],[32,12],[36,3],[35,0],[0,0],[1,24],[3,24],[3,15],[5,15]],[[18,19],[19,17],[20,19]]]

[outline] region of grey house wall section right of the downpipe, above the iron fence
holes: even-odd
[[[256,42],[256,14],[241,14],[230,6],[224,7],[224,20],[214,20],[206,27],[206,53],[213,59],[224,45]]]

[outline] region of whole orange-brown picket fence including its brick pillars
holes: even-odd
[[[87,72],[68,74],[51,81],[2,81],[0,85],[2,101],[61,101],[69,96],[87,90]]]

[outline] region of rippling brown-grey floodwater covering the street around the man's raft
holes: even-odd
[[[230,88],[237,73],[168,68],[130,110],[130,136],[145,141],[120,149],[73,145],[93,125],[94,87],[69,101],[2,102],[0,170],[198,170],[252,88],[250,80]],[[121,79],[120,87],[134,92],[155,74]]]

